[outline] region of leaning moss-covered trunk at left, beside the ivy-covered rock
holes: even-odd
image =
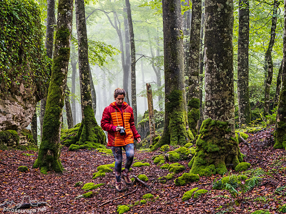
[[[47,173],[47,171],[52,170],[55,172],[62,172],[63,169],[59,159],[59,146],[62,109],[71,44],[72,13],[73,1],[59,0],[55,51],[43,121],[43,136],[38,158],[33,165],[33,167],[39,167],[42,173]]]

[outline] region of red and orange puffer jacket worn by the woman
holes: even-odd
[[[126,135],[121,136],[119,132],[114,132],[113,126],[118,125],[125,128]],[[125,146],[132,144],[134,138],[140,138],[140,134],[138,134],[134,125],[133,109],[126,102],[122,104],[122,112],[115,102],[107,106],[102,114],[101,127],[108,132],[107,146]]]

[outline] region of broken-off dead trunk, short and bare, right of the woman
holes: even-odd
[[[151,85],[146,83],[146,89],[147,89],[147,100],[148,100],[150,145],[152,145],[152,142],[153,142],[154,137],[155,137],[155,122],[154,122],[153,97],[152,97]]]

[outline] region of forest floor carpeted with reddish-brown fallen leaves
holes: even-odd
[[[275,194],[277,187],[286,184],[286,152],[285,150],[273,149],[273,139],[271,137],[273,128],[260,131],[257,134],[249,134],[247,144],[240,144],[240,149],[245,154],[244,161],[251,163],[252,169],[262,168],[271,175],[266,175],[263,181],[254,189],[247,192],[241,205],[235,205],[227,190],[212,189],[213,181],[221,175],[210,177],[200,177],[200,180],[186,186],[174,185],[174,179],[162,184],[157,178],[168,174],[167,170],[160,169],[152,161],[152,156],[161,152],[135,151],[137,160],[144,160],[150,166],[132,167],[130,175],[145,174],[151,185],[152,191],[140,183],[127,186],[123,193],[118,193],[114,189],[114,172],[106,173],[105,177],[92,179],[92,174],[97,171],[96,167],[114,162],[112,155],[103,155],[97,151],[68,151],[68,148],[61,149],[61,163],[66,171],[63,174],[48,173],[43,175],[39,169],[33,169],[32,165],[37,158],[37,152],[7,150],[0,151],[0,213],[8,207],[11,201],[19,203],[31,200],[47,202],[47,205],[36,209],[41,213],[117,213],[118,205],[132,205],[127,213],[252,213],[253,211],[266,209],[270,213],[279,213],[279,207],[286,203],[286,189],[280,194]],[[23,153],[33,154],[25,156]],[[123,160],[125,161],[125,160]],[[186,167],[185,172],[189,172],[188,161],[180,161]],[[25,165],[29,168],[27,172],[19,172],[17,168]],[[176,177],[183,172],[176,174]],[[238,174],[235,171],[230,172]],[[103,186],[95,189],[96,196],[92,198],[81,198],[75,200],[78,195],[84,193],[82,186],[75,187],[75,183],[82,181],[83,184],[93,182],[95,184],[104,183]],[[123,179],[122,179],[123,181]],[[124,183],[124,182],[122,182]],[[209,192],[197,199],[189,199],[182,202],[183,194],[194,188],[206,189]],[[137,190],[136,190],[137,188]],[[134,193],[116,199],[124,194]],[[142,200],[142,195],[151,193],[154,199],[146,204],[134,205],[136,201]],[[218,197],[222,195],[223,197]],[[106,205],[102,203],[114,199]],[[4,205],[3,205],[4,204]],[[34,212],[35,212],[34,211]],[[31,212],[31,211],[30,211]]]

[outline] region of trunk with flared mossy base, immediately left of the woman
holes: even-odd
[[[92,109],[90,70],[88,63],[88,39],[86,32],[84,0],[76,0],[76,30],[78,34],[78,68],[80,73],[80,100],[82,123],[76,134],[76,143],[86,148],[97,148],[106,143],[106,136],[98,126]]]

